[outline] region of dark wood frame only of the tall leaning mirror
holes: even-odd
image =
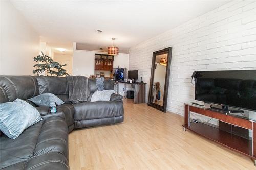
[[[151,96],[152,96],[152,87],[154,83],[154,74],[155,74],[155,63],[156,63],[156,56],[161,54],[167,53],[167,65],[166,65],[166,73],[165,73],[165,83],[164,83],[164,94],[163,94],[163,106],[155,104],[151,102]],[[167,98],[168,98],[168,87],[169,87],[169,78],[170,78],[170,63],[172,61],[172,47],[165,48],[163,50],[159,50],[156,52],[153,52],[153,58],[152,58],[152,66],[151,66],[151,78],[150,78],[150,90],[148,92],[148,106],[152,106],[158,110],[161,110],[163,112],[166,112],[167,107]]]

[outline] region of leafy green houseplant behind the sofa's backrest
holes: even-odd
[[[50,74],[51,76],[69,75],[67,70],[64,69],[64,67],[67,66],[67,64],[62,65],[59,62],[53,61],[51,57],[44,55],[44,53],[42,53],[42,55],[34,57],[34,61],[39,63],[34,65],[36,69],[33,70],[33,74],[40,74],[46,71],[46,74]]]

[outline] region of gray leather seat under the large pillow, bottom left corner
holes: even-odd
[[[16,139],[0,137],[0,169],[33,156],[43,120],[23,131]]]

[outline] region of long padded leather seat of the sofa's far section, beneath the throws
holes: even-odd
[[[123,115],[122,101],[82,102],[74,106],[74,120],[89,120]]]

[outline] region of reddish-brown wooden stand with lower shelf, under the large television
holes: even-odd
[[[252,140],[245,139],[243,137],[225,132],[218,128],[206,125],[204,123],[190,123],[190,112],[205,115],[211,118],[218,119],[222,122],[226,122],[231,125],[236,125],[241,128],[252,130]],[[243,119],[229,114],[224,114],[218,111],[212,111],[193,104],[185,104],[184,114],[184,131],[189,129],[201,136],[204,136],[210,140],[233,150],[237,151],[245,156],[250,157],[256,163],[256,122],[252,120]]]

